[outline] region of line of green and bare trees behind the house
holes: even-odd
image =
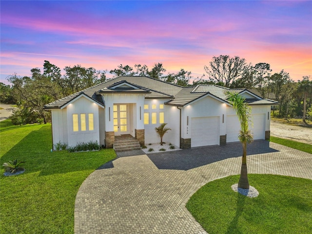
[[[12,85],[0,83],[0,102],[16,103],[20,107],[11,118],[15,124],[46,123],[50,114],[43,109],[44,105],[109,80],[107,70],[98,71],[93,67],[65,66],[64,71],[61,75],[58,66],[44,61],[42,72],[33,68],[30,77],[14,74],[7,78]],[[279,106],[274,115],[278,117],[302,116],[305,123],[306,116],[312,118],[310,76],[294,82],[284,70],[272,74],[270,64],[253,65],[244,58],[229,55],[213,57],[204,66],[205,73],[201,77],[193,77],[191,71],[183,68],[176,73],[166,71],[162,63],[155,63],[152,68],[146,64],[135,64],[134,67],[120,64],[109,73],[113,77],[149,76],[180,86],[204,84],[247,88],[259,92],[264,98],[277,100]]]

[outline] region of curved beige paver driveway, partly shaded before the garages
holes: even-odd
[[[207,182],[238,174],[240,150],[241,145],[235,143],[117,158],[81,185],[75,233],[206,233],[185,204]],[[249,173],[312,179],[312,154],[267,141],[254,142],[249,152]],[[191,167],[173,170],[171,164]]]

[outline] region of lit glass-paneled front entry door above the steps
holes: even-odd
[[[128,134],[128,106],[127,104],[114,105],[114,132],[118,134]]]

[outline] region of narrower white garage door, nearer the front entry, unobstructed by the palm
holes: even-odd
[[[191,147],[220,144],[219,117],[191,119]]]

